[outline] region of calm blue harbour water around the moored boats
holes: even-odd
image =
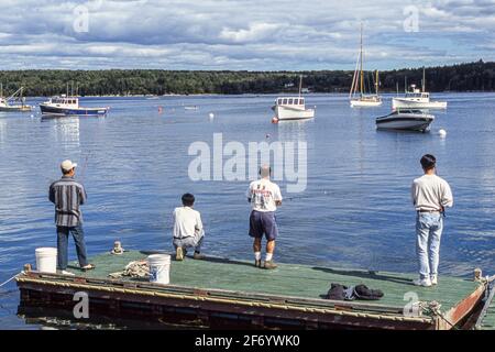
[[[55,245],[47,188],[64,158],[79,163],[88,191],[89,254],[110,250],[117,239],[125,249],[172,249],[170,212],[191,191],[207,229],[205,252],[251,260],[248,183],[188,177],[190,143],[212,144],[213,133],[244,145],[267,134],[268,142],[307,142],[306,191],[287,195],[280,183],[288,198],[278,212],[277,261],[415,272],[409,186],[421,174],[419,157],[432,153],[454,194],[441,273],[465,276],[480,266],[494,274],[495,95],[436,95],[449,109],[436,113],[426,134],[375,130],[373,118],[389,110],[391,97],[382,108],[352,110],[346,96],[310,95],[314,121],[278,125],[270,123],[274,98],[88,98],[82,103],[112,109],[86,119],[0,112],[0,283],[34,263],[35,248]],[[184,109],[194,105],[197,111]],[[440,128],[446,139],[436,133]],[[0,289],[0,329],[38,328],[15,316],[18,296],[13,283]]]

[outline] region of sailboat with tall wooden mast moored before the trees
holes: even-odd
[[[358,57],[354,76],[352,77],[351,90],[349,92],[349,100],[351,102],[351,108],[369,108],[369,107],[380,107],[382,105],[382,98],[378,95],[378,70],[376,70],[375,78],[375,94],[365,92],[365,81],[364,81],[364,51],[363,51],[363,24],[361,23],[361,43],[360,43],[360,55]]]

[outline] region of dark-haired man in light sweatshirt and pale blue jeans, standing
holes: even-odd
[[[421,157],[425,175],[416,178],[411,187],[416,218],[416,253],[419,263],[417,286],[429,287],[438,283],[440,239],[443,230],[446,207],[452,207],[453,198],[449,184],[436,175],[437,160],[431,154]]]

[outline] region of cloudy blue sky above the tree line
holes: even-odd
[[[354,69],[495,61],[495,0],[0,0],[0,69]]]

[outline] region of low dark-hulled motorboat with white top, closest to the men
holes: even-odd
[[[426,132],[433,120],[435,116],[421,110],[397,109],[387,116],[377,118],[376,128],[378,130]]]

